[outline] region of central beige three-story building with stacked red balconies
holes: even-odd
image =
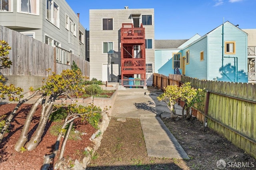
[[[90,10],[90,78],[146,86],[153,68],[154,9]]]

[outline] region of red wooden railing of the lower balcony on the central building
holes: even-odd
[[[121,59],[122,70],[145,70],[145,59]]]

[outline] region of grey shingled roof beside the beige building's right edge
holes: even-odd
[[[155,49],[176,49],[188,39],[155,40]]]

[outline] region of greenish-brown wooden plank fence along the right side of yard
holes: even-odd
[[[154,74],[153,85],[163,89],[167,85],[180,86],[185,82],[206,89],[204,106],[194,109],[193,115],[204,124],[207,121],[210,129],[256,158],[256,84]]]

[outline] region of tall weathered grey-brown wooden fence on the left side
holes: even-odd
[[[48,68],[60,74],[62,70],[70,69],[73,61],[82,70],[84,76],[89,76],[90,74],[90,64],[85,59],[77,57],[69,51],[65,51],[70,63],[60,62],[57,60],[57,51],[63,51],[63,49],[51,47],[46,43],[1,25],[0,40],[5,40],[12,47],[8,55],[12,61],[12,66],[11,68],[2,69],[1,73],[3,75],[48,76],[48,72],[46,71]]]

